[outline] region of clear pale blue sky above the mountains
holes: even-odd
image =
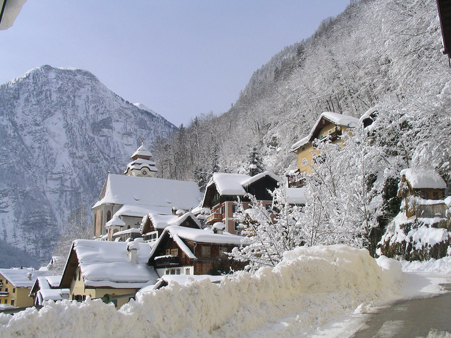
[[[41,66],[96,75],[175,125],[227,111],[252,73],[349,0],[28,0],[0,31],[0,83]]]

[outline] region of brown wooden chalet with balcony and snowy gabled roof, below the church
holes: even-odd
[[[173,275],[219,275],[240,270],[244,263],[229,258],[228,252],[241,244],[243,237],[220,229],[203,230],[168,226],[155,243],[149,265],[161,277]]]

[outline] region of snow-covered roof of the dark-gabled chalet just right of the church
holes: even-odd
[[[211,180],[208,182],[207,187],[215,184],[217,192],[221,195],[243,196],[246,194],[246,187],[265,176],[271,177],[278,182],[281,180],[279,176],[270,171],[265,171],[255,176],[214,173]]]

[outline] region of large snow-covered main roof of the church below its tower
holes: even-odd
[[[101,198],[93,208],[102,204],[128,204],[170,214],[173,207],[186,210],[196,207],[201,197],[194,182],[109,174]]]

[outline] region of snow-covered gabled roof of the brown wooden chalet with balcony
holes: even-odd
[[[180,249],[190,259],[197,259],[194,253],[189,247],[182,241],[182,239],[193,241],[196,243],[209,243],[209,244],[235,244],[240,245],[242,236],[232,235],[229,233],[217,234],[212,232],[211,229],[193,229],[183,226],[168,226],[163,230],[161,236],[157,239],[157,242],[152,247],[150,256],[155,253],[155,250],[159,246],[159,243],[165,237],[165,234],[169,233],[169,236],[177,243]]]

